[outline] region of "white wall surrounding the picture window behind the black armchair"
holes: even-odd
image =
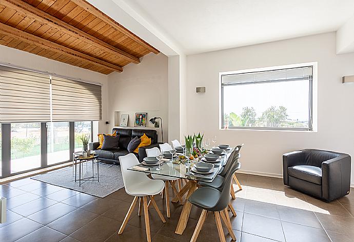
[[[220,130],[219,72],[318,62],[318,132]],[[218,143],[242,148],[242,170],[282,175],[282,154],[304,148],[349,153],[354,158],[354,53],[336,55],[327,33],[187,56],[187,130],[217,135]],[[195,87],[206,93],[196,94]],[[352,166],[352,177],[354,177]]]

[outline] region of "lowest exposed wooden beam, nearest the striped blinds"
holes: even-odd
[[[25,31],[13,28],[13,27],[5,25],[3,23],[0,23],[0,33],[6,34],[14,39],[19,39],[19,40],[29,43],[29,44],[34,44],[36,46],[40,46],[46,50],[51,50],[51,51],[54,51],[57,53],[61,53],[61,54],[67,55],[69,57],[80,59],[84,62],[89,62],[90,64],[93,64],[95,66],[99,65],[101,67],[104,67],[104,68],[107,68],[107,69],[110,69],[113,71],[118,71],[118,72],[123,71],[122,67],[115,66],[111,63],[105,62],[104,60],[97,59],[95,57],[78,52],[76,50],[72,50],[72,49],[67,48],[65,46],[58,45],[54,42],[48,41],[47,39],[43,39],[41,37],[29,34]]]

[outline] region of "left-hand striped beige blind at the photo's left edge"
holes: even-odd
[[[48,74],[0,66],[0,122],[50,121]]]

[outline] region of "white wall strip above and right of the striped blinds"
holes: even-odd
[[[81,78],[91,82],[102,83],[102,96],[106,97],[108,93],[108,75],[57,62],[39,55],[0,45],[0,62],[39,71],[47,71],[67,77]],[[93,127],[93,140],[97,140],[97,133],[105,133],[107,130],[104,123],[107,119],[108,113],[107,101],[107,98],[102,98],[102,121],[97,123],[94,122],[97,125],[95,124]]]

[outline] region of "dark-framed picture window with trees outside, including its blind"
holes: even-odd
[[[221,73],[222,128],[312,130],[312,66]]]

